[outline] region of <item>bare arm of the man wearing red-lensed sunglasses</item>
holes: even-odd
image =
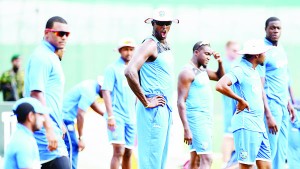
[[[39,100],[42,103],[42,105],[47,106],[46,99],[44,97],[43,92],[38,91],[38,90],[33,90],[33,91],[31,91],[30,96]],[[45,121],[44,121],[43,125],[46,129],[48,148],[50,151],[53,151],[53,150],[56,150],[57,146],[58,146],[57,138],[55,137],[53,128],[50,123],[50,116],[48,114],[44,114],[44,117],[45,117]]]

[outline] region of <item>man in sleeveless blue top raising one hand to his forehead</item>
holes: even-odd
[[[218,61],[216,72],[206,69],[211,55]],[[193,47],[190,63],[178,78],[177,107],[184,128],[184,142],[190,145],[191,169],[207,169],[212,164],[213,93],[209,80],[217,81],[224,75],[218,53],[204,41]]]

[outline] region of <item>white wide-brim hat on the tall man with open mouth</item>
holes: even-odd
[[[147,18],[144,22],[151,23],[153,20],[157,21],[172,21],[173,23],[179,23],[179,19],[174,19],[171,11],[165,8],[158,8],[153,11],[152,18]]]

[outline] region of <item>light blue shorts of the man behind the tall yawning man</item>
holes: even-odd
[[[107,129],[108,139],[111,144],[124,144],[126,148],[134,147],[136,136],[136,124],[126,123],[123,119],[116,117],[116,128],[114,131]]]

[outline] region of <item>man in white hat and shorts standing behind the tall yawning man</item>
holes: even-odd
[[[136,97],[131,91],[124,70],[132,58],[135,43],[130,38],[119,42],[120,58],[107,67],[101,88],[107,111],[109,141],[113,146],[110,168],[131,169],[131,154],[136,135],[135,103]]]

